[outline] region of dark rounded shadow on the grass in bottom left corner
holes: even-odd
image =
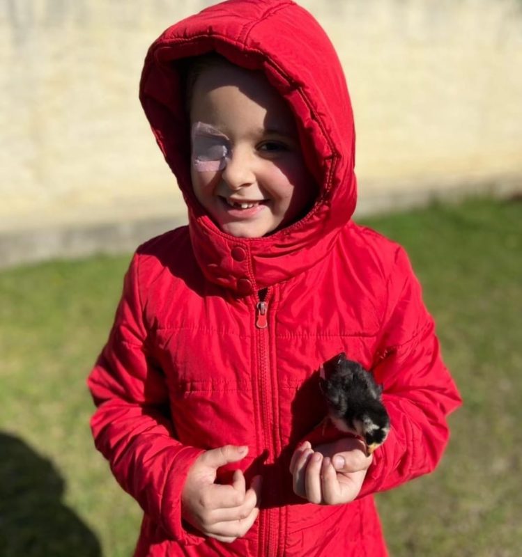
[[[0,555],[100,557],[100,544],[61,501],[64,482],[49,460],[0,433]]]

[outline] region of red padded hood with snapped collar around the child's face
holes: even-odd
[[[266,237],[223,233],[192,193],[186,58],[213,51],[263,71],[284,97],[319,188],[305,217]],[[140,100],[183,191],[194,253],[208,280],[250,295],[305,271],[331,251],[355,209],[353,112],[335,49],[305,9],[284,0],[229,0],[183,19],[148,50]]]

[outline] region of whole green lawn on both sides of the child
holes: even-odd
[[[478,199],[365,223],[406,246],[465,405],[436,473],[377,501],[394,557],[522,547],[522,203]],[[128,256],[0,273],[0,555],[123,557],[140,511],[93,449],[85,378]]]

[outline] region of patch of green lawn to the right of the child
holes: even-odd
[[[378,497],[390,551],[519,556],[522,203],[439,205],[371,224],[408,249],[464,399],[436,473]]]

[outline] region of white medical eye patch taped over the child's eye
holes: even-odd
[[[196,122],[192,125],[192,166],[198,172],[217,172],[227,166],[230,140],[215,127]]]

